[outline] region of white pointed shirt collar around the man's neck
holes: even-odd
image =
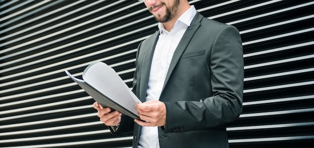
[[[186,26],[190,27],[191,26],[191,23],[192,23],[192,20],[194,18],[194,16],[196,15],[197,11],[195,9],[195,7],[192,5],[190,7],[190,9],[188,9],[185,13],[183,13],[179,19],[177,20],[177,22],[175,23],[175,26],[174,28],[177,26],[177,24],[179,22],[185,24]],[[159,23],[158,24],[158,28],[160,30],[160,34],[162,34],[163,31],[166,31],[163,23]]]

